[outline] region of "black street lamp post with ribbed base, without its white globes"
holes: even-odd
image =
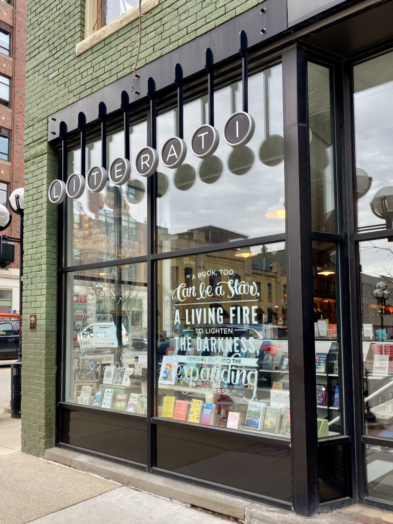
[[[20,216],[20,255],[19,255],[19,348],[18,359],[11,364],[11,418],[20,419],[20,403],[22,397],[22,298],[23,298],[23,209],[16,204]]]

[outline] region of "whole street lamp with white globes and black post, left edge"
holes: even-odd
[[[25,209],[25,190],[24,188],[15,189],[9,196],[8,203],[12,211],[20,216],[20,236],[19,238],[8,239],[20,244],[19,261],[19,348],[18,359],[11,364],[11,418],[20,418],[21,400],[21,376],[22,376],[22,299],[23,299],[23,216]],[[4,231],[12,221],[12,215],[8,209],[0,204],[0,231]]]

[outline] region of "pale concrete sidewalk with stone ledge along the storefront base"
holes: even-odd
[[[393,512],[365,506],[305,519],[68,450],[46,457],[21,453],[20,419],[0,409],[0,524],[393,523]]]

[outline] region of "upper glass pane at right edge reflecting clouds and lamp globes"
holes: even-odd
[[[358,231],[392,228],[393,53],[353,69]]]

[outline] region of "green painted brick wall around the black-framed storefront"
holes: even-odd
[[[255,0],[160,0],[143,17],[142,66],[250,9]],[[25,126],[22,449],[42,455],[54,445],[57,208],[49,203],[57,156],[47,144],[47,117],[132,72],[139,20],[81,56],[84,0],[28,3]],[[49,76],[57,72],[51,80]],[[29,332],[29,314],[37,331]]]

